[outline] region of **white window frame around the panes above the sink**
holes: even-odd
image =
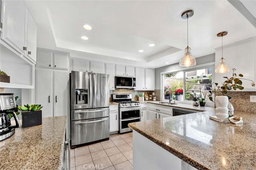
[[[185,77],[185,72],[189,72],[189,71],[194,71],[194,70],[200,70],[200,69],[206,69],[206,68],[212,68],[212,82],[215,81],[215,72],[213,70],[215,70],[215,63],[207,63],[207,64],[201,64],[201,65],[197,65],[194,66],[192,68],[183,68],[180,70],[173,70],[173,71],[166,71],[166,72],[161,72],[161,101],[163,102],[169,102],[169,100],[164,99],[164,74],[170,74],[170,73],[174,73],[174,72],[183,72],[183,89],[185,89],[185,83],[186,83],[186,77]],[[184,93],[186,93],[184,91]],[[176,103],[180,103],[180,104],[192,104],[193,101],[190,100],[186,100],[186,95],[183,95],[183,101],[179,101],[179,100],[175,100]],[[214,104],[208,104],[209,106],[214,106]]]

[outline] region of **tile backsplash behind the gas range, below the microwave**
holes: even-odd
[[[126,93],[132,94],[132,100],[137,101],[139,94],[140,94],[140,93],[143,93],[143,92],[144,92],[145,94],[146,94],[146,92],[147,92],[148,95],[150,95],[150,94],[152,94],[152,92],[154,92],[154,91],[136,91],[136,90],[133,90],[133,89],[116,89],[116,90],[110,90],[110,101],[112,101],[112,98],[113,98],[112,94],[126,94]],[[156,94],[155,94],[155,96],[156,96]],[[158,100],[157,96],[156,96],[156,100]],[[159,100],[160,100],[160,98],[159,98]]]

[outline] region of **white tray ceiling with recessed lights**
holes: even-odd
[[[178,63],[186,47],[194,57],[256,36],[256,28],[228,1],[26,1],[38,23],[38,47],[70,51],[72,57],[157,68]],[[88,31],[84,24],[92,26]],[[89,40],[82,40],[87,36]],[[148,47],[155,43],[155,47]],[[138,50],[143,49],[143,53]]]

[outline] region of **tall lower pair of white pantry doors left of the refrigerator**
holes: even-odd
[[[36,103],[42,117],[68,115],[68,71],[36,69]]]

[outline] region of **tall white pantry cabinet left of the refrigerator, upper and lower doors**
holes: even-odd
[[[37,49],[36,103],[44,106],[42,117],[68,115],[68,62],[69,53]]]

